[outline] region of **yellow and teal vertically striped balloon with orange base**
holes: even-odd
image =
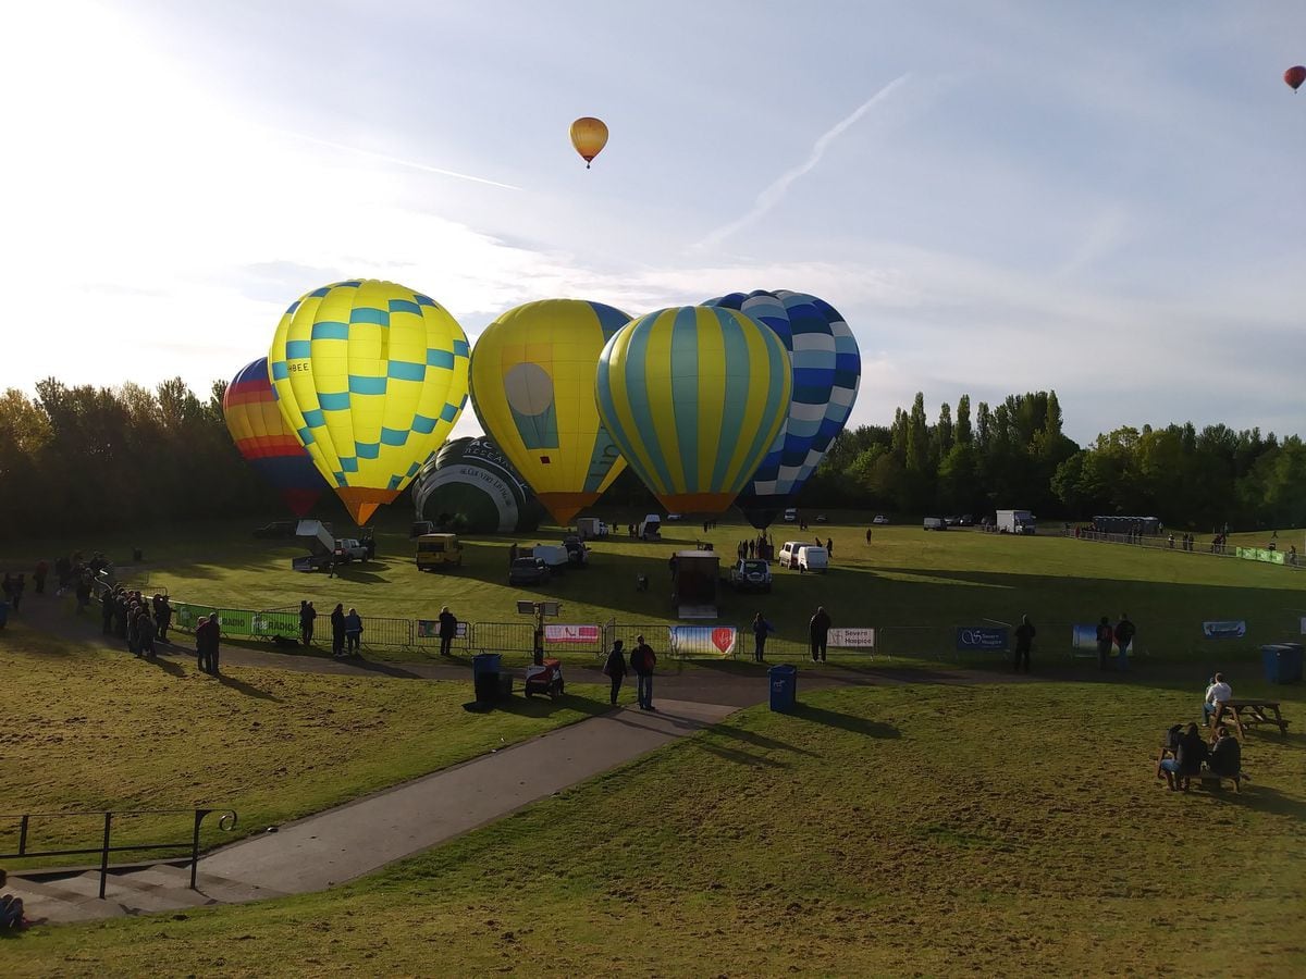
[[[725,308],[641,316],[598,359],[598,414],[671,513],[721,513],[767,457],[793,389],[776,333]]]

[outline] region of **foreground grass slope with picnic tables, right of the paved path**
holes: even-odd
[[[0,956],[10,975],[1301,975],[1306,738],[1251,734],[1242,794],[1168,792],[1155,748],[1199,698],[811,694],[337,890],[38,928]]]

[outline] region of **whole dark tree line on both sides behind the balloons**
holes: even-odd
[[[180,379],[154,390],[68,386],[0,397],[0,539],[282,513],[240,458],[222,418],[223,381],[208,397]],[[1055,392],[1011,394],[972,411],[963,394],[931,422],[925,396],[889,426],[840,433],[803,488],[806,508],[897,514],[1043,518],[1157,516],[1174,527],[1306,525],[1306,446],[1259,429],[1191,423],[1118,428],[1085,448],[1062,432]],[[605,504],[656,508],[627,470]],[[338,517],[330,495],[324,508]],[[400,504],[402,505],[402,504]]]

